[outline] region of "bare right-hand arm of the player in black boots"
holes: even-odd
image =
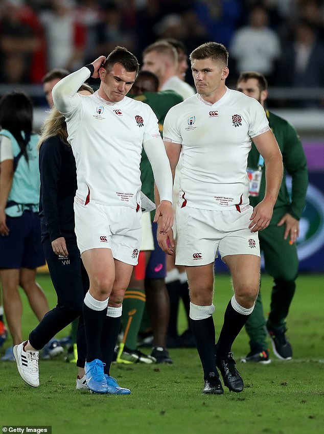
[[[279,146],[271,130],[253,137],[253,143],[264,158],[266,190],[263,200],[254,208],[249,228],[251,232],[262,231],[271,220],[282,178],[283,161]]]

